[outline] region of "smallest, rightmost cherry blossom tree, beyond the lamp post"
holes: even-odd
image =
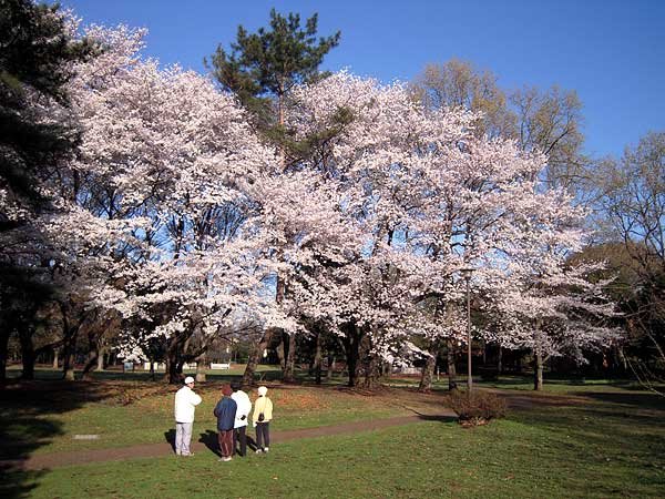
[[[494,265],[497,274],[483,283],[498,323],[485,336],[502,347],[532,352],[536,390],[543,387],[549,358],[569,356],[584,364],[585,352],[607,347],[620,336],[611,326],[614,304],[603,292],[608,282],[593,278],[604,263],[571,261],[584,243],[577,228],[584,213],[557,203],[565,197],[562,191],[539,194],[538,208],[514,224],[526,224],[531,240],[508,241],[503,251],[510,259]]]

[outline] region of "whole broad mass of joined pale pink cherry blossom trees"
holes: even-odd
[[[543,155],[473,133],[477,115],[332,74],[285,95],[285,164],[234,96],[143,58],[143,30],[83,33],[102,50],[70,83],[81,144],[47,186],[61,211],[40,227],[68,289],[63,314],[120,315],[124,358],[147,359],[161,342],[175,383],[219,337],[247,335],[249,384],[273,332],[325,329],[345,346],[349,384],[372,385],[387,359],[436,359],[459,340],[469,265],[513,323],[501,296],[531,303],[539,291],[582,309],[570,297],[590,289],[582,274],[555,286],[580,248],[571,200],[539,184]],[[587,345],[566,317],[569,343]],[[505,334],[523,342],[522,329]]]

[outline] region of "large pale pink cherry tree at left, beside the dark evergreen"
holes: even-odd
[[[141,59],[142,31],[86,34],[105,52],[72,84],[83,128],[74,192],[45,226],[84,266],[75,287],[89,307],[147,320],[167,338],[175,380],[235,307],[279,322],[263,296],[272,262],[249,196],[275,155],[211,81]],[[141,356],[140,343],[121,353]]]

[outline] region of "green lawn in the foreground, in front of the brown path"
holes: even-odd
[[[34,498],[661,498],[662,420],[614,403],[512,414],[485,427],[421,422],[272,446],[218,462],[212,454],[24,475]],[[19,477],[17,477],[19,478]]]

